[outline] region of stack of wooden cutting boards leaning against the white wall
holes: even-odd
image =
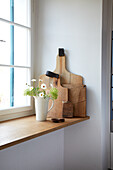
[[[83,85],[83,77],[67,71],[65,56],[57,56],[54,73],[60,75],[60,80],[55,85],[59,90],[59,97],[48,116],[52,118],[63,117],[62,101],[70,101],[73,104],[73,117],[86,117],[86,86]],[[46,75],[41,75],[40,79],[46,83],[47,87],[51,83],[54,84],[54,79]]]

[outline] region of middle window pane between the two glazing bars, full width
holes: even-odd
[[[13,27],[14,33],[11,32]],[[13,36],[14,46],[12,42]],[[29,42],[30,31],[28,29],[18,26],[11,26],[0,21],[0,64],[12,64],[10,59],[14,50],[14,64],[20,66],[30,66]]]

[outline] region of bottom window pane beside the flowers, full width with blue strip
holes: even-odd
[[[0,67],[0,109],[30,106],[31,98],[23,95],[29,75],[29,69]]]

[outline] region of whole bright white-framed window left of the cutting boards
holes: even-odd
[[[31,79],[30,0],[0,0],[0,118],[27,111],[30,97],[23,95]],[[28,112],[30,110],[30,112]],[[5,115],[5,117],[4,117]],[[16,115],[16,114],[15,114]]]

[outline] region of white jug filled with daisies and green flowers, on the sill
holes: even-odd
[[[43,80],[39,79],[38,85],[36,85],[36,79],[31,80],[33,85],[28,84],[26,90],[24,91],[25,96],[33,96],[35,99],[35,112],[37,121],[45,121],[47,118],[47,113],[53,108],[54,100],[58,97],[58,90],[54,88],[51,84],[51,88],[47,89]],[[48,110],[49,100],[52,100],[52,105]]]

